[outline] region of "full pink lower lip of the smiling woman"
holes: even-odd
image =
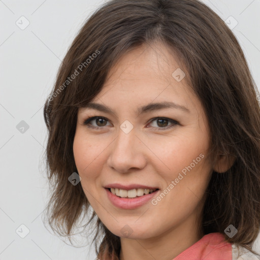
[[[148,201],[150,201],[155,194],[158,193],[159,190],[156,190],[150,194],[145,194],[140,197],[136,197],[133,199],[126,199],[126,198],[120,198],[109,191],[109,189],[105,188],[107,192],[107,196],[111,203],[120,208],[120,209],[136,209],[138,207],[141,207],[142,205],[146,204]]]

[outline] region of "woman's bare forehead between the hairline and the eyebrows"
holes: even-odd
[[[185,68],[167,45],[142,45],[115,63],[93,102],[102,101],[111,106],[120,102],[120,106],[129,105],[133,109],[135,105],[152,102],[182,103],[183,107],[190,107],[188,104],[194,102],[196,96],[187,85],[186,77]],[[198,103],[198,99],[196,101]]]

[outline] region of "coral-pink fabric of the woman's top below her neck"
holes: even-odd
[[[232,244],[220,233],[210,233],[188,247],[173,260],[232,260]]]

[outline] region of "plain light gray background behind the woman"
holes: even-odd
[[[233,16],[238,21],[233,32],[259,87],[260,0],[203,2],[223,20]],[[67,245],[43,225],[41,213],[48,199],[43,159],[47,133],[43,104],[69,45],[87,17],[102,3],[96,0],[0,1],[1,260],[95,258],[93,249]],[[21,16],[29,21],[24,30],[16,25],[17,20],[25,25]],[[24,133],[16,128],[21,120],[29,126]],[[25,238],[16,233],[21,224],[30,231]]]

